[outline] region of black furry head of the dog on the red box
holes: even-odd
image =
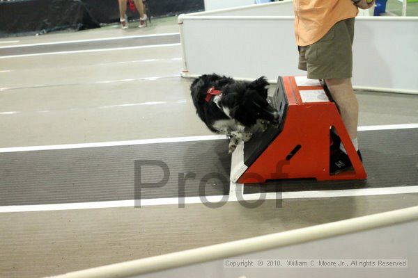
[[[219,105],[229,117],[245,126],[256,124],[257,119],[274,122],[279,113],[267,100],[268,82],[260,77],[251,83],[237,82],[225,88],[228,90]]]

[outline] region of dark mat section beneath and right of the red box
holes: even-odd
[[[244,194],[418,186],[418,129],[359,131],[366,181],[283,180],[245,185]]]

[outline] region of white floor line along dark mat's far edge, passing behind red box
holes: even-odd
[[[359,126],[359,131],[373,131],[373,130],[387,130],[387,129],[418,129],[417,124],[385,124],[378,126]],[[190,142],[190,141],[204,141],[204,140],[219,140],[226,139],[226,136],[211,135],[211,136],[188,136],[188,137],[172,137],[172,138],[156,138],[143,140],[127,140],[114,142],[91,142],[79,144],[65,144],[65,145],[45,145],[45,146],[29,146],[29,147],[6,147],[0,148],[0,153],[5,152],[31,152],[31,151],[45,151],[50,149],[81,149],[86,147],[114,147],[125,145],[142,145],[155,144],[167,142]]]

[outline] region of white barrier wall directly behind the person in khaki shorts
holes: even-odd
[[[291,3],[251,7],[178,17],[184,77],[215,72],[275,82],[304,75],[297,70],[293,16],[270,12],[293,13]],[[357,17],[353,58],[355,88],[417,94],[418,17]]]

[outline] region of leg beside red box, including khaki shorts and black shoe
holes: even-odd
[[[357,121],[359,107],[351,85],[355,19],[345,19],[332,26],[323,38],[308,45],[305,51],[309,79],[323,79],[330,94],[339,107],[341,118],[355,149],[357,142]],[[330,149],[330,173],[334,174],[351,167],[350,158],[338,136],[331,134],[336,145]],[[360,156],[361,157],[361,156]]]

